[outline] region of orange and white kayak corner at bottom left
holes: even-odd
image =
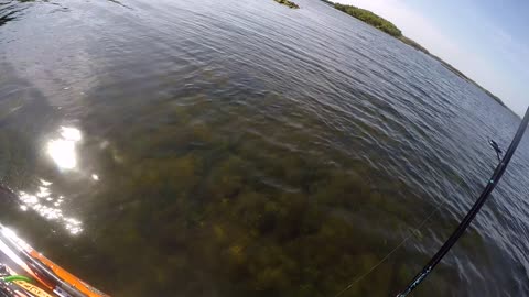
[[[0,224],[0,297],[109,297]]]

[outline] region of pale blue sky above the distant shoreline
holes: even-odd
[[[371,10],[523,116],[529,106],[529,1],[337,0]]]

